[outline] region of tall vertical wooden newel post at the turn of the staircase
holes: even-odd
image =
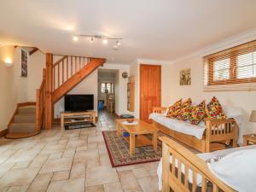
[[[53,119],[52,82],[53,82],[53,55],[46,54],[46,96],[45,96],[45,129],[50,130]]]

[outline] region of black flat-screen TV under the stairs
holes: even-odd
[[[65,111],[80,112],[93,110],[93,95],[66,95]]]

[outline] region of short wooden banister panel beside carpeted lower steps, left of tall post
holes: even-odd
[[[43,69],[43,81],[40,88],[37,90],[37,102],[36,102],[36,131],[40,131],[43,125],[44,119],[44,105],[45,105],[45,78],[46,69]]]

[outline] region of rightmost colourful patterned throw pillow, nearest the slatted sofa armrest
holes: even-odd
[[[213,96],[211,102],[207,104],[204,121],[206,121],[207,119],[225,119],[225,118],[227,118],[227,116],[225,115],[223,108],[218,102],[218,99],[215,96]]]

